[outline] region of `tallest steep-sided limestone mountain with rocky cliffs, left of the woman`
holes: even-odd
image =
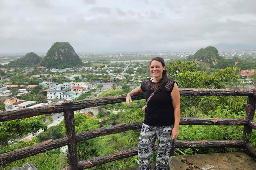
[[[47,68],[70,68],[82,65],[82,60],[68,42],[55,42],[43,58],[41,65]]]

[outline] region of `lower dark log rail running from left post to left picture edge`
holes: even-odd
[[[60,138],[57,140],[47,140],[43,143],[25,147],[22,149],[17,149],[11,152],[3,153],[0,155],[0,165],[4,165],[19,159],[23,159],[29,156],[36,155],[38,153],[43,153],[52,149],[57,149],[62,146],[65,146],[68,144],[67,137]]]

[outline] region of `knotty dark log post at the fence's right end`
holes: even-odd
[[[249,96],[247,98],[246,114],[245,114],[245,118],[247,118],[249,121],[253,120],[254,118],[255,104],[256,104],[256,98]],[[250,127],[250,125],[245,125],[242,139],[246,142],[249,142],[249,139],[246,139],[246,135],[250,135],[251,133],[252,133],[252,128]]]

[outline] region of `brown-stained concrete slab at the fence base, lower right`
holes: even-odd
[[[139,166],[123,170],[139,170]],[[256,170],[256,161],[243,152],[171,156],[168,170]]]

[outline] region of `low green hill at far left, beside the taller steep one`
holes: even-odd
[[[11,61],[8,63],[8,67],[33,67],[36,64],[39,64],[42,60],[41,57],[39,57],[34,52],[27,53],[24,57],[19,58],[17,60]]]

